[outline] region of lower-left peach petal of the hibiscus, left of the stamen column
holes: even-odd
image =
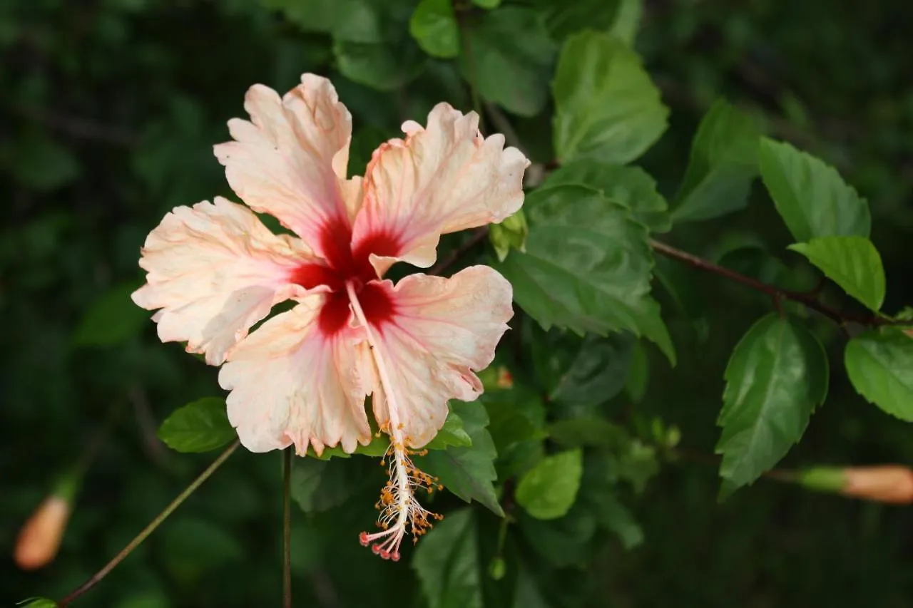
[[[371,442],[364,398],[373,383],[362,328],[331,337],[320,331],[326,298],[314,294],[267,320],[231,351],[219,372],[228,395],[228,420],[241,444],[268,452],[290,444],[320,455],[341,445],[352,453]]]

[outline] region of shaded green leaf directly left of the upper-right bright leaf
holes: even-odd
[[[718,100],[691,142],[691,158],[676,196],[675,222],[707,220],[748,204],[758,174],[761,131],[750,116]]]

